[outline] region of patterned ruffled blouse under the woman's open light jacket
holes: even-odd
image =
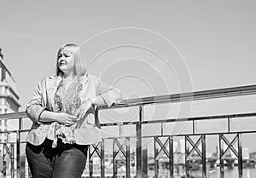
[[[82,80],[83,77],[74,78],[73,82],[66,89],[64,78],[59,76],[55,82],[53,91],[49,94],[47,102],[49,103],[49,111],[66,112],[74,116],[79,106],[81,106],[80,93],[83,89]],[[52,147],[57,146],[58,139],[61,139],[63,143],[75,143],[74,129],[75,124],[67,126],[58,122],[51,123],[47,137],[53,140]]]

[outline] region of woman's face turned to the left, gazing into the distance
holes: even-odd
[[[70,73],[73,72],[74,69],[74,57],[73,54],[68,52],[67,50],[62,50],[58,55],[58,66],[61,72]]]

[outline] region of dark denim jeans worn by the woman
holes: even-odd
[[[33,178],[80,178],[89,146],[64,144],[56,148],[46,139],[40,146],[26,143],[26,158]]]

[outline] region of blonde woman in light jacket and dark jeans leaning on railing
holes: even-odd
[[[119,89],[86,72],[79,46],[62,46],[56,75],[38,84],[26,107],[33,122],[26,144],[32,177],[81,177],[88,147],[102,140],[96,106],[118,100]]]

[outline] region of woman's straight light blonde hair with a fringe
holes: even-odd
[[[57,52],[57,60],[56,60],[56,75],[59,76],[63,74],[61,69],[58,66],[59,55],[62,51],[67,51],[68,53],[73,55],[74,58],[74,75],[82,76],[86,72],[86,64],[81,54],[81,49],[78,45],[74,43],[67,43],[63,45]]]

